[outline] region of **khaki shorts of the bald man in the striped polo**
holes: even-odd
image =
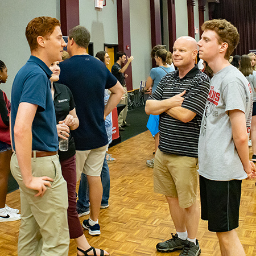
[[[199,174],[198,159],[156,151],[154,160],[154,191],[178,197],[181,208],[196,202]]]

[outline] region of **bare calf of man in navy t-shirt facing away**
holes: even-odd
[[[102,199],[102,184],[100,176],[87,175],[89,183],[89,198],[90,198],[90,218],[93,221],[98,220],[98,214],[100,213],[101,199]]]

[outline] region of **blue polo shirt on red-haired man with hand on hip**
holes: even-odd
[[[14,125],[20,102],[38,105],[32,122],[32,150],[58,150],[56,117],[49,81],[51,75],[51,70],[42,60],[30,56],[15,76],[11,90],[11,133],[14,150]]]

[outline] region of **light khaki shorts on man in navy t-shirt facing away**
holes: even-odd
[[[93,150],[76,150],[76,180],[79,181],[82,172],[89,176],[101,176],[105,155],[106,146]]]

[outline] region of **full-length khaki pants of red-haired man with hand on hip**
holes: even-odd
[[[18,255],[68,255],[69,230],[67,220],[67,183],[61,175],[57,155],[31,158],[32,175],[48,176],[54,181],[43,197],[28,189],[16,154],[11,157],[11,173],[20,187],[21,224],[19,228]]]

